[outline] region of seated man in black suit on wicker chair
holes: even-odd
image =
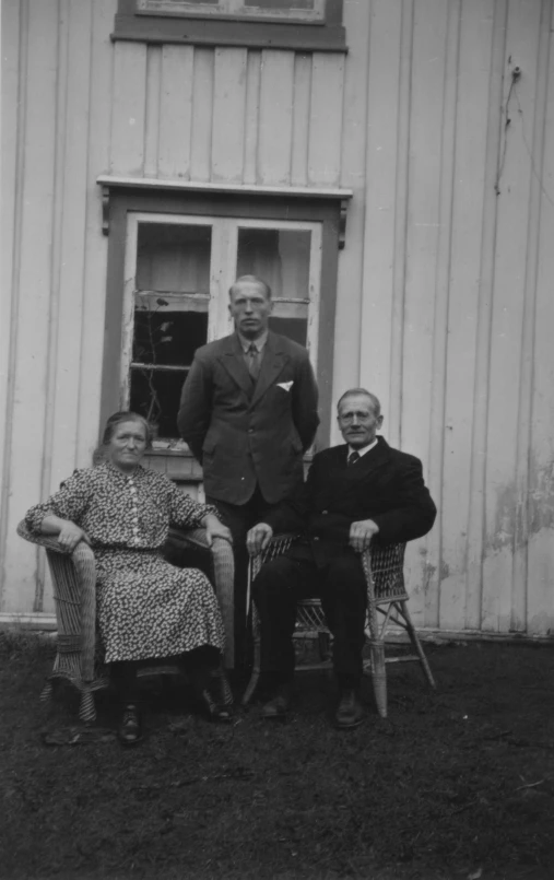
[[[363,388],[346,391],[338,421],[346,445],[314,457],[306,483],[250,529],[247,547],[256,555],[274,532],[302,533],[286,553],[262,566],[252,585],[261,626],[260,671],[271,694],[263,717],[283,718],[288,709],[296,601],[317,596],[334,636],[335,721],[350,728],[363,717],[358,691],[367,598],[359,553],[372,540],[387,544],[420,538],[432,528],[436,507],[421,461],[376,437],[382,415],[375,395]]]

